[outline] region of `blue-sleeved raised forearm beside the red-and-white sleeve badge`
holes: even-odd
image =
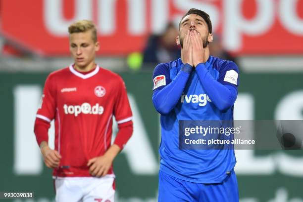
[[[192,71],[192,66],[185,64],[182,66],[181,71],[161,90],[157,90],[152,94],[152,103],[160,114],[168,114],[178,103],[186,82]]]

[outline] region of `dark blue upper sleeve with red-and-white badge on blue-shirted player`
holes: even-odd
[[[167,63],[158,64],[152,74],[152,90],[161,90],[171,82]]]

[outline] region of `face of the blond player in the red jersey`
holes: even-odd
[[[74,58],[75,65],[85,68],[95,60],[99,42],[94,42],[92,31],[73,33],[69,35],[69,49]]]

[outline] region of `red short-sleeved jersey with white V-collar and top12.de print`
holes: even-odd
[[[82,74],[71,65],[49,75],[37,118],[55,120],[55,150],[62,156],[55,176],[91,176],[88,161],[110,147],[112,116],[118,124],[132,120],[126,88],[117,74],[98,65]]]

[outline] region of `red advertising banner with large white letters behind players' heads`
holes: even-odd
[[[100,55],[142,51],[151,33],[179,23],[190,9],[206,11],[213,33],[236,54],[303,53],[302,0],[1,0],[1,33],[42,55],[68,55],[69,24],[90,19]]]

